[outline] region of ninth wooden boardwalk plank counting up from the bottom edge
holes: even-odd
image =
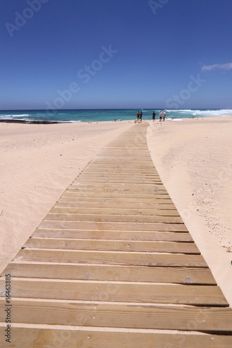
[[[104,215],[104,214],[47,214],[45,221],[95,221],[125,223],[183,223],[180,216]]]

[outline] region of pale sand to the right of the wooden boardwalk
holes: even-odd
[[[232,306],[232,116],[150,121],[162,182]]]

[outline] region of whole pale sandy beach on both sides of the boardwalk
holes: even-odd
[[[232,306],[231,122],[149,121],[147,139],[164,186]],[[1,271],[86,164],[132,125],[0,123]]]

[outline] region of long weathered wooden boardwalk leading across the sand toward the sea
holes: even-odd
[[[1,274],[1,347],[232,347],[232,310],[155,170],[146,129],[109,143]]]

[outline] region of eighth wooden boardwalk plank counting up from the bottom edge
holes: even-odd
[[[116,223],[95,221],[42,221],[39,228],[71,230],[123,230],[146,232],[188,232],[183,223]]]

